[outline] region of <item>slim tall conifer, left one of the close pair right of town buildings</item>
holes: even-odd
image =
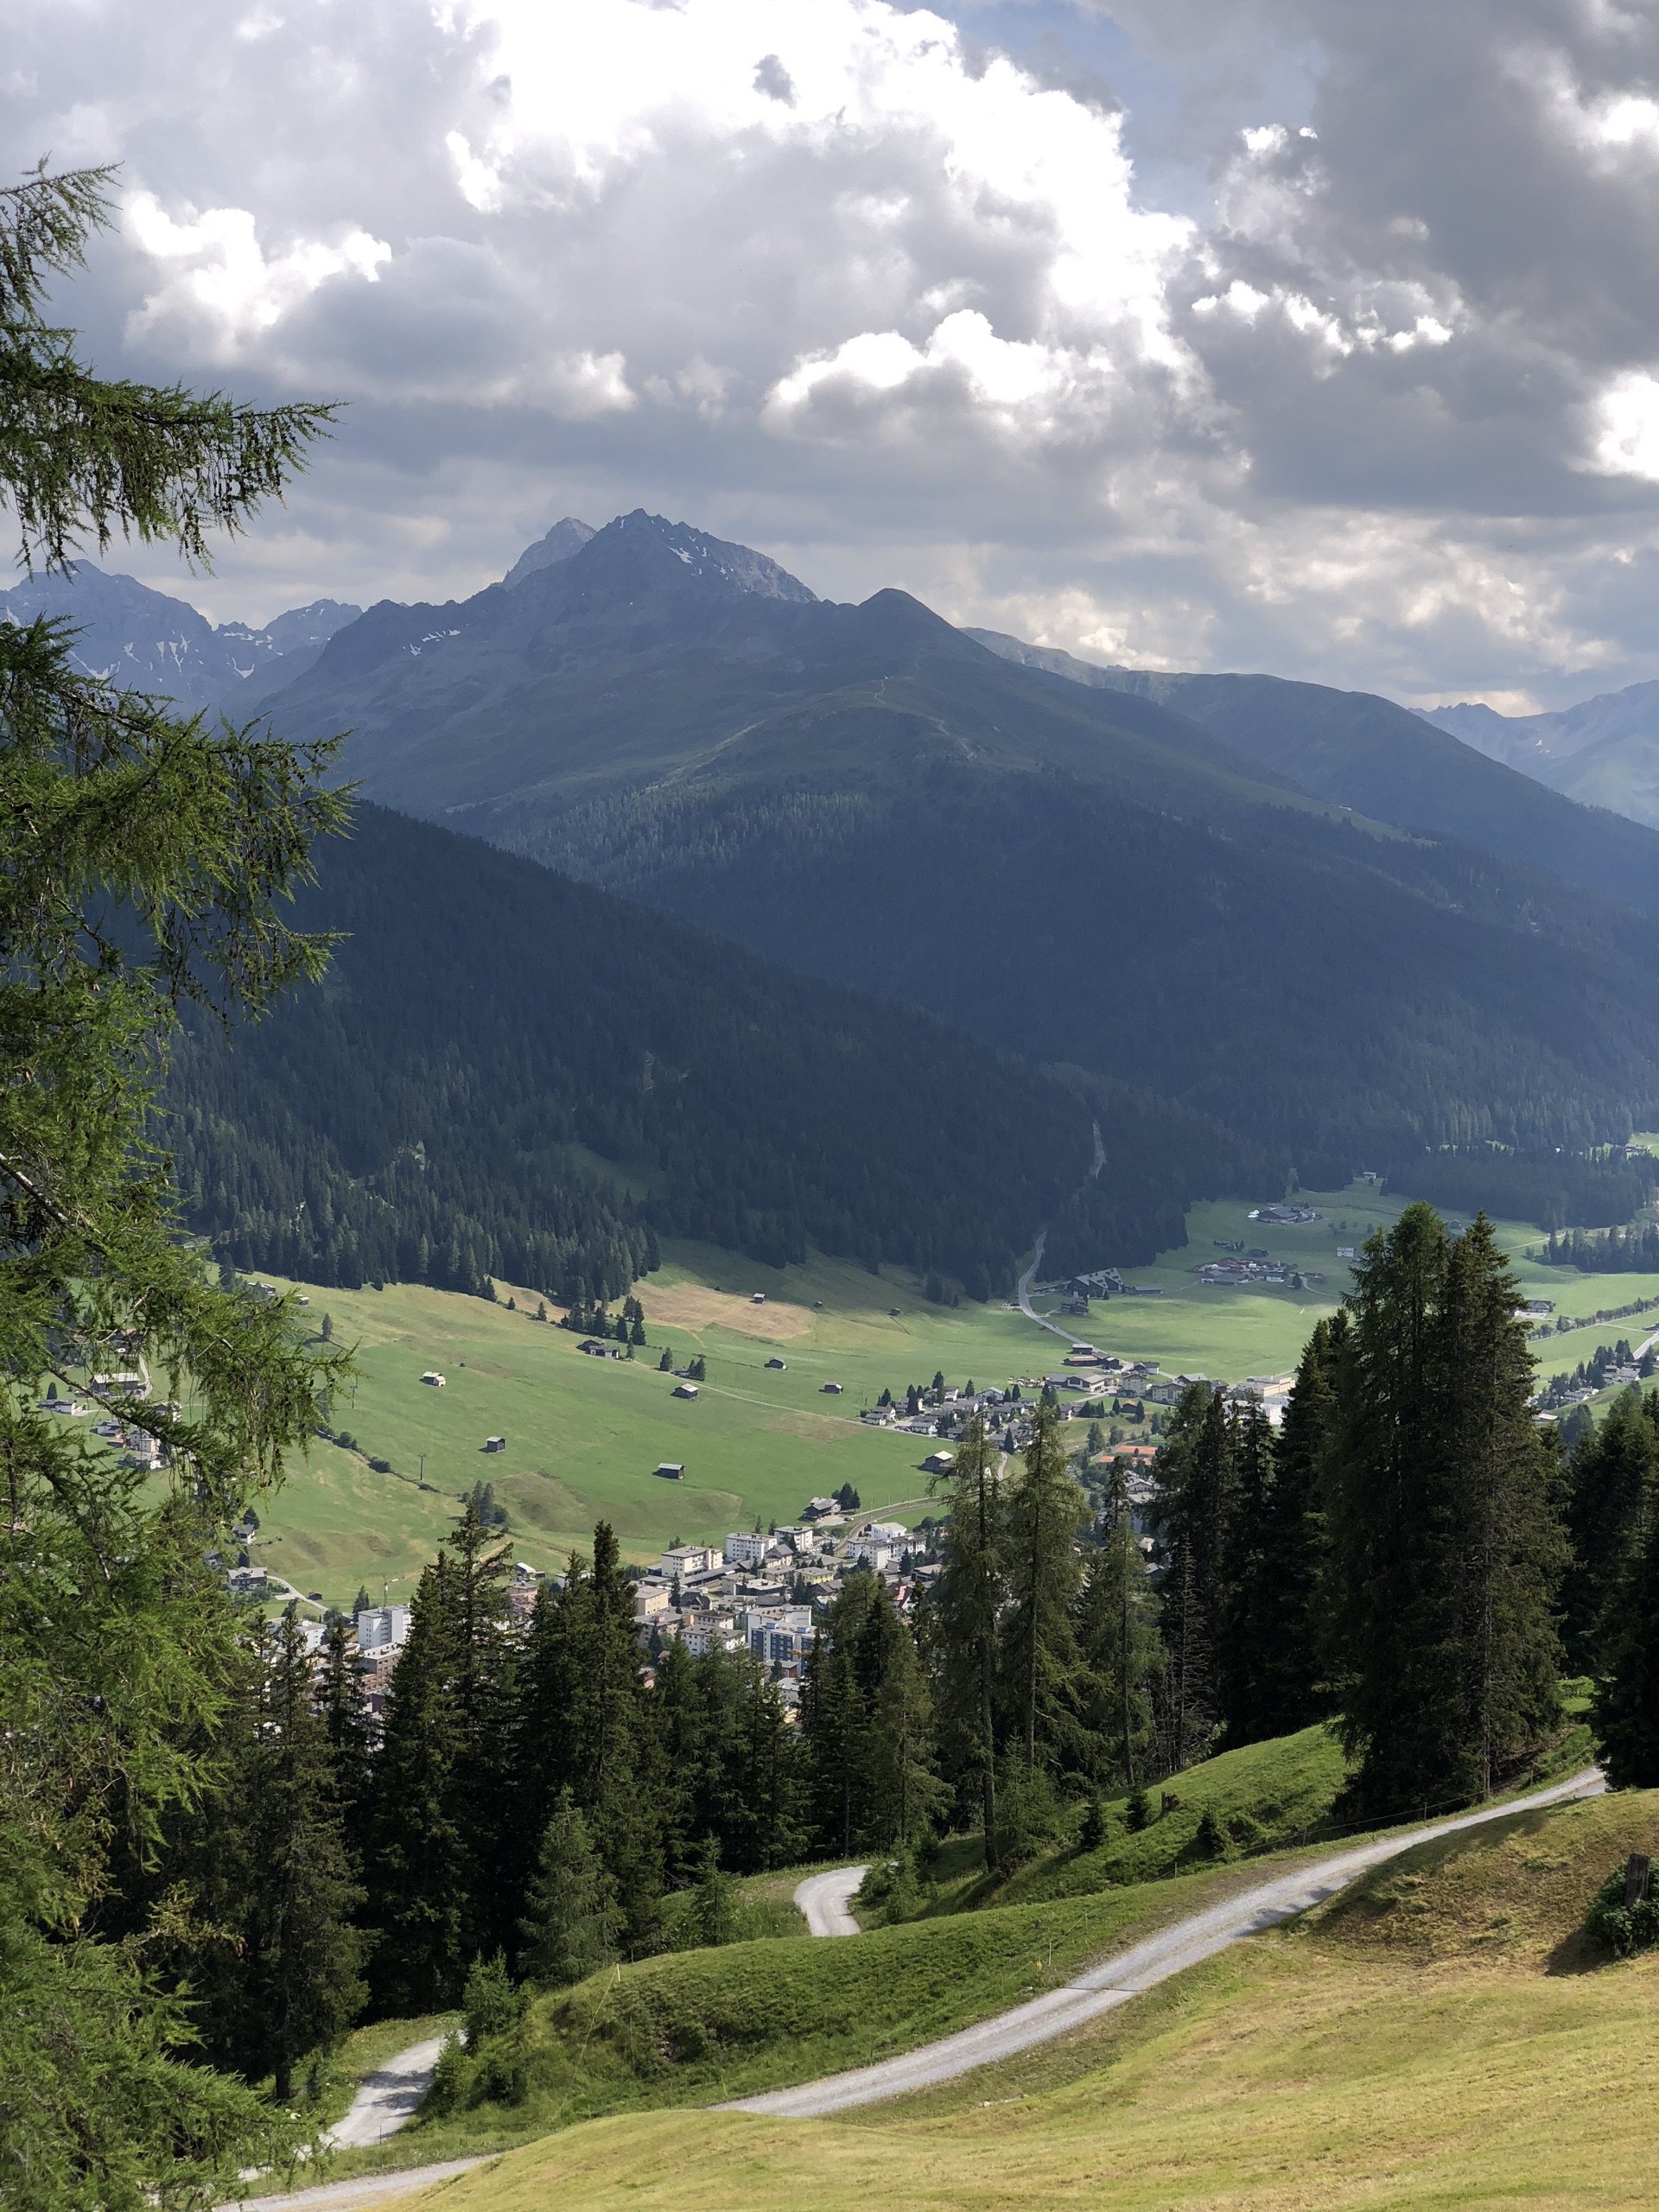
[[[975,1413],[945,1478],[945,1566],[929,1599],[940,1703],[956,1767],[980,1801],[984,1863],[995,1869],[995,1679],[1004,1597],[1004,1511],[998,1449]]]

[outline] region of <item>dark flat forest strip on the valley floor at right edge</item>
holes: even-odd
[[[1318,1188],[1318,1186],[1312,1186]],[[1606,1267],[1652,1267],[1657,1259],[1624,1259],[1619,1243],[1624,1232],[1615,1232],[1610,1243],[1584,1239],[1577,1232],[1606,1221],[1630,1221],[1655,1192],[1655,1161],[1646,1152],[1626,1155],[1615,1150],[1504,1150],[1502,1146],[1447,1146],[1436,1152],[1416,1152],[1389,1164],[1383,1181],[1385,1190],[1427,1199],[1429,1206],[1464,1212],[1489,1212],[1504,1221],[1533,1221],[1542,1230],[1573,1230],[1571,1239],[1551,1234],[1551,1259],[1557,1241],[1579,1250],[1606,1250],[1606,1261],[1564,1259],[1562,1265],[1606,1265]],[[1659,1252],[1659,1232],[1655,1232]]]

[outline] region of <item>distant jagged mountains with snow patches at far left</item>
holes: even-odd
[[[184,599],[150,591],[131,575],[104,575],[91,562],[75,562],[71,575],[29,577],[0,591],[0,622],[33,622],[51,615],[80,630],[71,659],[80,670],[106,677],[124,690],[177,699],[197,712],[254,712],[259,701],[312,666],[327,639],[361,606],[312,599],[276,615],[263,630],[246,622],[217,628]]]

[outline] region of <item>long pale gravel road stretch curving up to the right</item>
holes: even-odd
[[[1197,1966],[1199,1960],[1214,1958],[1217,1951],[1225,1951],[1228,1944],[1241,1942],[1245,1936],[1259,1936],[1281,1920],[1294,1920],[1296,1913],[1305,1913],[1310,1907],[1336,1896],[1358,1874],[1383,1865],[1387,1858],[1398,1858],[1418,1843],[1427,1843],[1433,1836],[1453,1836],[1458,1829],[1480,1827],[1486,1820],[1506,1820],[1509,1814],[1528,1812],[1540,1805],[1557,1805],[1562,1798],[1593,1796],[1604,1787],[1606,1783],[1597,1770],[1586,1767],[1573,1781],[1557,1783],[1553,1790],[1540,1790],[1533,1796],[1513,1798],[1509,1805],[1464,1814],[1460,1820],[1436,1820],[1433,1827],[1418,1827],[1407,1836],[1387,1836],[1378,1843],[1358,1845],[1352,1851],[1338,1851],[1334,1858],[1321,1858],[1314,1865],[1281,1874],[1272,1882],[1261,1882],[1256,1889],[1245,1889],[1223,1905],[1208,1907],[1208,1911],[1190,1913],[1159,1936],[1148,1936],[1146,1942],[1119,1951],[1099,1966],[1091,1966],[1088,1973],[1077,1975],[1075,1982],[1066,1982],[1064,1989],[1053,1989],[1029,2004],[1018,2004],[1011,2013],[1000,2013],[995,2020],[982,2020],[973,2028],[962,2028],[958,2035],[947,2035],[936,2044],[922,2044],[918,2051],[905,2051],[876,2066],[825,2075],[818,2081],[770,2090],[763,2097],[739,2097],[732,2104],[714,2106],[714,2110],[823,2119],[830,2112],[847,2112],[860,2104],[880,2104],[887,2097],[902,2097],[909,2090],[933,2088],[938,2081],[953,2081],[975,2066],[989,2066],[995,2059],[1013,2057],[1018,2051],[1029,2051],[1033,2044],[1046,2044],[1055,2035],[1066,2035],[1099,2013],[1128,2004],[1130,1997],[1137,1997],[1144,1989],[1152,1989],[1155,1982],[1166,1982],[1172,1973]]]

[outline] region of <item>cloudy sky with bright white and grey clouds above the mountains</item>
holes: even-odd
[[[646,507],[814,591],[1409,703],[1659,677],[1659,7],[0,0],[104,374],[336,398],[212,575]]]

